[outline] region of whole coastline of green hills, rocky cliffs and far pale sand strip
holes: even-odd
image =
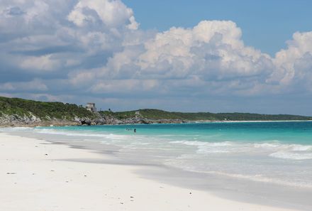
[[[312,121],[289,114],[166,112],[139,109],[126,112],[92,111],[77,104],[0,97],[0,126],[66,126],[104,124],[182,124],[203,122]]]

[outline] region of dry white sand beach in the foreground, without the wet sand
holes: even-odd
[[[0,133],[0,210],[286,211],[148,180],[134,173],[138,166],[65,161],[103,156]]]

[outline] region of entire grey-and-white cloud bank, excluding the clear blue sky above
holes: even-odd
[[[1,1],[0,94],[104,109],[232,111],[252,99],[255,112],[311,97],[312,32],[294,33],[271,57],[244,45],[233,21],[139,26],[119,0]],[[267,110],[257,109],[265,101]]]

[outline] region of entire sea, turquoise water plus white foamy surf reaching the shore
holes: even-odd
[[[136,129],[136,133],[134,132]],[[50,126],[1,129],[118,148],[119,158],[312,188],[312,121]]]

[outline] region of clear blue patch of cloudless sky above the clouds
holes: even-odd
[[[125,0],[145,29],[165,31],[172,26],[193,27],[202,20],[230,20],[243,31],[246,45],[274,55],[286,47],[295,31],[311,31],[309,0]]]

